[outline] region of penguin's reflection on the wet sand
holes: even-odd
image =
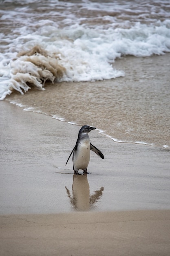
[[[66,188],[68,198],[70,199],[71,205],[74,209],[78,211],[87,211],[93,204],[99,200],[102,196],[104,188],[101,187],[99,190],[95,191],[93,195],[90,195],[90,188],[87,180],[87,175],[73,175],[73,185],[71,195],[69,189]]]

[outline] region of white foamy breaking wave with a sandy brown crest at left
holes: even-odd
[[[83,8],[101,11],[101,3],[89,5],[87,2],[82,2]],[[53,11],[53,4],[55,3],[51,1],[51,7],[48,6],[51,8],[51,19],[49,19],[49,13],[45,13],[43,17],[44,5],[38,9],[38,20],[34,20],[33,24],[27,21],[13,28],[8,35],[2,30],[0,37],[1,100],[13,90],[23,94],[32,85],[44,90],[46,81],[79,82],[117,78],[125,74],[123,70],[114,68],[116,58],[124,55],[138,57],[170,52],[170,20],[168,19],[157,20],[150,24],[133,22],[128,23],[128,27],[117,27],[115,20],[114,22],[112,20],[113,16],[109,16],[107,11],[102,17],[102,21],[110,22],[107,23],[106,28],[101,23],[95,25],[95,17],[89,17],[89,20],[93,18],[93,26],[89,26],[87,18],[86,23],[82,22],[85,18],[77,16],[77,22],[75,22],[75,13],[72,14],[70,9],[73,3],[60,2],[64,13],[62,21],[62,11],[59,7],[57,11]],[[103,7],[106,11],[107,5]],[[11,11],[11,20],[9,13],[3,11],[1,20],[12,22],[12,17],[16,16],[17,11],[17,8]],[[27,19],[31,17],[30,11],[30,7],[22,7],[22,12],[28,16]],[[118,7],[117,11],[120,12]],[[23,13],[22,16],[17,16],[18,22],[24,22]],[[54,15],[58,18],[57,22],[53,20]]]

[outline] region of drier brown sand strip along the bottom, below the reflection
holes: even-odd
[[[170,255],[170,211],[0,217],[3,256]]]

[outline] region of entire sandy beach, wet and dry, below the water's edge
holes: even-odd
[[[7,101],[0,115],[0,255],[170,255],[169,150],[91,132],[105,158],[80,176],[82,205],[65,166],[79,126]]]

